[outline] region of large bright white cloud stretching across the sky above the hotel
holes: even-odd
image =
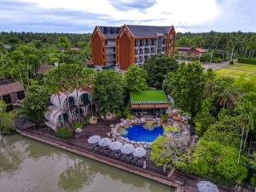
[[[108,15],[113,20],[134,20],[140,24],[199,25],[218,15],[215,0],[158,0],[147,9],[116,9],[108,0],[23,0],[45,9],[71,9]],[[124,2],[125,1],[125,2]],[[129,1],[123,0],[123,3]],[[132,2],[132,1],[131,1]],[[137,1],[142,3],[141,1]],[[134,2],[132,2],[134,3]],[[148,22],[148,20],[152,20]]]

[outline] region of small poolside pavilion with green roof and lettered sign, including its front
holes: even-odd
[[[143,90],[131,92],[131,111],[143,115],[160,115],[166,113],[170,106],[164,90]]]

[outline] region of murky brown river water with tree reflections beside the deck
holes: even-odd
[[[174,189],[25,137],[0,143],[0,191],[166,192]]]

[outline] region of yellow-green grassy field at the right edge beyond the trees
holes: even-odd
[[[239,79],[242,75],[245,75],[245,79],[254,80],[256,83],[256,65],[236,63],[235,65],[218,69],[216,73],[234,79]]]

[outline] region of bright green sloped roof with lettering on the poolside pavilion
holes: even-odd
[[[170,103],[164,90],[143,90],[130,93],[131,104],[165,104]]]

